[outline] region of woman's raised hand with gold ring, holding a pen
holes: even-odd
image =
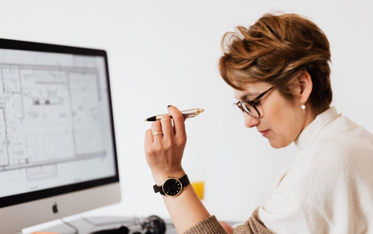
[[[162,116],[160,121],[154,121],[151,129],[145,132],[145,156],[153,178],[157,184],[162,184],[168,176],[184,176],[181,167],[181,158],[186,144],[184,116],[175,107],[167,108],[170,116]],[[153,132],[163,134],[152,135]]]

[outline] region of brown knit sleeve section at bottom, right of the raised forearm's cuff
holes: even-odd
[[[255,209],[248,221],[233,229],[233,234],[275,234],[259,218],[259,207]]]

